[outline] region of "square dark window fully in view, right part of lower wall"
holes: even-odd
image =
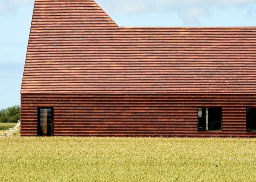
[[[221,108],[198,108],[198,131],[221,130]]]

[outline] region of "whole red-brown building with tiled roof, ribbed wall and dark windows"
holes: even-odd
[[[22,136],[256,136],[256,27],[119,27],[36,0]]]

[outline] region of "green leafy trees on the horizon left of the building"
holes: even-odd
[[[20,106],[0,110],[0,123],[17,123],[20,120]]]

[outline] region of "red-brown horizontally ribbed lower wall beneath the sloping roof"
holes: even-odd
[[[37,108],[53,107],[54,136],[255,137],[256,95],[21,94],[21,135],[37,135]],[[221,107],[222,131],[198,132],[197,108]]]

